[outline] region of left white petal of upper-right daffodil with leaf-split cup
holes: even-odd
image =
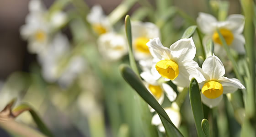
[[[215,27],[213,26],[213,23],[215,22],[217,22],[217,20],[214,16],[203,12],[200,12],[199,16],[197,17],[197,25],[205,34],[209,34],[215,31]]]

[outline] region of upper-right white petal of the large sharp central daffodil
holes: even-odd
[[[196,55],[196,46],[192,37],[178,40],[170,46],[170,50],[171,59],[176,63],[184,60],[193,60]]]

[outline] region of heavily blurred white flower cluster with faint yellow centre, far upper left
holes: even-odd
[[[50,17],[49,20],[47,19],[48,16]],[[26,24],[20,29],[21,37],[28,41],[28,51],[30,53],[44,51],[51,41],[51,31],[63,25],[66,20],[66,15],[63,12],[56,11],[53,15],[48,15],[41,0],[31,0]]]

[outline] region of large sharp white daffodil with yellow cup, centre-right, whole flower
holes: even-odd
[[[197,70],[197,62],[193,61],[196,47],[191,38],[181,39],[170,46],[164,47],[159,38],[150,39],[147,43],[151,55],[156,63],[158,73],[181,87],[188,87],[194,77],[197,81],[205,80]]]

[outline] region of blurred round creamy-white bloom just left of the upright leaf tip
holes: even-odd
[[[118,60],[128,53],[126,39],[115,32],[102,34],[97,43],[99,52],[108,60]]]

